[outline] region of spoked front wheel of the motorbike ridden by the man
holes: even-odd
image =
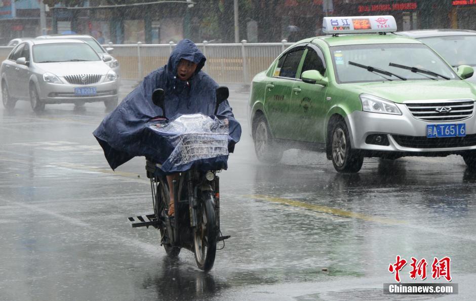
[[[215,201],[206,194],[197,206],[194,247],[196,265],[204,271],[210,271],[215,262],[218,229],[215,216]]]

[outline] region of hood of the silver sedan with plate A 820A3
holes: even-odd
[[[61,62],[36,64],[45,72],[51,72],[58,77],[71,74],[106,74],[111,68],[103,61],[93,62]]]

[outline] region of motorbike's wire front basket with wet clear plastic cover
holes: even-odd
[[[163,166],[178,167],[197,160],[228,156],[228,125],[216,117],[182,115],[168,123],[150,124],[149,127],[168,136],[174,147]]]

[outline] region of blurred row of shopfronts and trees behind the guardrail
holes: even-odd
[[[235,41],[234,0],[0,0],[0,44],[42,33],[91,34],[101,43]],[[393,15],[399,30],[476,30],[473,0],[235,0],[237,41],[295,42],[321,35],[325,16]],[[147,4],[149,3],[149,4]],[[152,4],[150,4],[152,3]],[[102,39],[101,39],[102,38]]]

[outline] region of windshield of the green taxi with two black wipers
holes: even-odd
[[[371,44],[331,47],[338,83],[381,81],[441,80],[442,77],[414,72],[395,65],[405,65],[441,74],[451,80],[459,79],[455,72],[431,49],[422,44]],[[350,63],[349,63],[350,62]],[[355,63],[378,68],[388,73],[369,71]],[[392,65],[390,65],[392,63]]]

